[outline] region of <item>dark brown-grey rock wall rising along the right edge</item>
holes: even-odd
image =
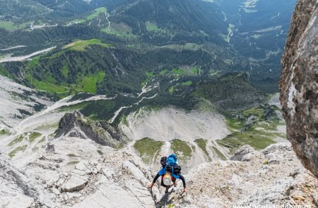
[[[318,177],[318,3],[298,1],[279,87],[288,140],[306,169]]]

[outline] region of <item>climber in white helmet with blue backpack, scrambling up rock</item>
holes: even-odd
[[[169,157],[162,157],[160,163],[162,167],[148,187],[153,188],[155,181],[161,176],[161,185],[165,187],[165,193],[167,193],[172,184],[177,185],[176,180],[179,178],[183,183],[183,192],[186,192],[187,186],[184,177],[181,175],[181,167],[177,164],[177,156],[170,154]]]

